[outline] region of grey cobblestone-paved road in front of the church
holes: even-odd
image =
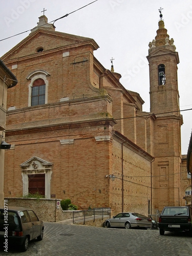
[[[26,252],[9,246],[0,255],[30,256],[188,256],[192,254],[192,238],[186,234],[159,230],[101,228],[45,222],[42,241],[32,241]]]

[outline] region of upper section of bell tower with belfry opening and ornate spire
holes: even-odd
[[[169,39],[164,28],[161,15],[157,35],[148,45],[150,49],[147,56],[150,66],[150,112],[154,114],[179,111],[177,81],[179,55],[176,52],[174,39]]]

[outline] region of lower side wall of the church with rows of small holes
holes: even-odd
[[[129,140],[114,137],[111,174],[116,178],[114,181],[110,179],[110,205],[113,212],[137,211],[144,215],[151,214],[152,160],[141,148],[133,148]]]

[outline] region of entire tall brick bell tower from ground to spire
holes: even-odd
[[[159,9],[159,28],[150,42],[148,62],[150,69],[150,112],[154,121],[154,157],[152,164],[153,205],[160,211],[165,205],[182,204],[180,192],[181,125],[177,65],[179,55],[174,39],[169,39]]]

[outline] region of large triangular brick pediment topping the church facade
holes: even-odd
[[[93,50],[99,48],[92,38],[71,35],[67,33],[38,29],[30,33],[25,39],[19,42],[10,51],[4,54],[1,59],[10,61],[28,56],[38,56],[55,50],[62,50],[71,47],[91,44]],[[38,49],[43,51],[38,52]]]

